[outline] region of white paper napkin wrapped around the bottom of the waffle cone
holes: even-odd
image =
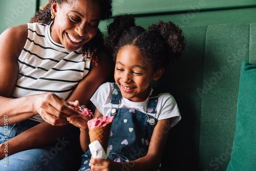
[[[108,158],[110,150],[111,150],[108,147],[106,149],[106,153],[105,153],[105,150],[103,149],[102,145],[100,144],[100,142],[98,140],[93,141],[92,143],[90,143],[89,148],[90,148],[90,151],[91,151],[91,154],[92,154],[93,158],[95,158],[95,159],[106,159],[106,158]]]

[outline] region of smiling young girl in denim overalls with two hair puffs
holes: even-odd
[[[96,106],[94,117],[115,116],[109,138],[111,151],[104,160],[92,158],[89,150],[82,156],[80,170],[156,170],[170,127],[181,116],[174,97],[156,93],[150,84],[161,77],[169,58],[180,56],[185,46],[182,31],[162,21],[145,31],[135,26],[132,15],[116,17],[108,29],[106,45],[114,54],[115,83],[102,84],[91,101]],[[70,123],[79,126],[74,120]],[[88,129],[86,125],[79,127],[86,152]]]

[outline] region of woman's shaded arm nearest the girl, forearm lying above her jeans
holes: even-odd
[[[81,104],[90,106],[91,96],[100,86],[100,84],[108,80],[111,73],[111,68],[112,62],[109,57],[103,54],[99,55],[98,66],[95,66],[93,64],[91,65],[90,72],[87,74],[86,77],[83,78],[82,81],[79,82],[79,84],[77,85],[75,90],[73,90],[72,94],[68,97],[67,100],[79,100]],[[29,129],[24,133],[10,139],[8,141],[8,145],[12,144],[12,151],[8,153],[14,154],[25,149],[48,145],[56,141],[58,137],[62,137],[63,135],[65,135],[65,133],[67,132],[66,127],[69,127],[69,125],[52,126],[46,122],[40,123],[33,129]],[[49,134],[51,134],[50,137]],[[18,139],[23,139],[23,141],[17,141]],[[2,149],[3,146],[0,145],[0,157],[1,153],[3,152]]]

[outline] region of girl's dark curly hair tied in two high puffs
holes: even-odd
[[[172,22],[159,20],[144,30],[135,25],[132,14],[119,15],[108,26],[105,45],[113,53],[114,61],[121,48],[133,45],[139,48],[146,61],[152,62],[154,70],[165,67],[171,58],[178,59],[185,48],[182,30]]]

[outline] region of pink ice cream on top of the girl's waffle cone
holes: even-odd
[[[87,122],[89,129],[93,130],[95,127],[104,127],[106,124],[111,123],[113,121],[114,116],[103,116],[96,117]]]

